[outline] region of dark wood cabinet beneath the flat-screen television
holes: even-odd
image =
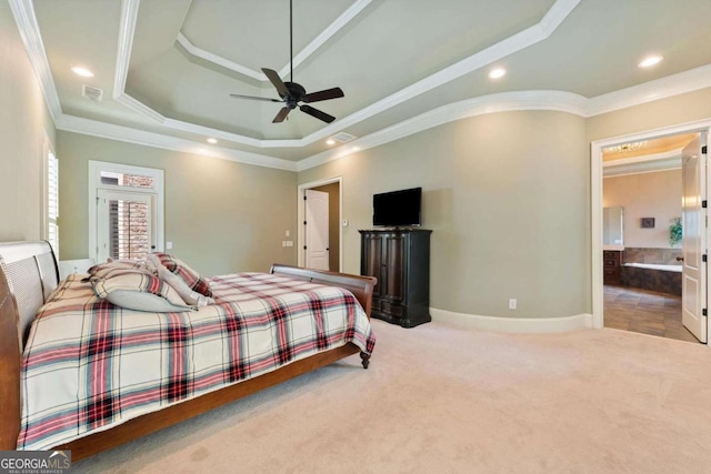
[[[430,316],[430,234],[424,229],[361,230],[361,275],[375,276],[372,316],[413,327]]]

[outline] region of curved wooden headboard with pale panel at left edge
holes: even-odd
[[[27,332],[57,288],[57,259],[47,242],[0,243],[0,450],[14,450],[20,428],[20,361]]]

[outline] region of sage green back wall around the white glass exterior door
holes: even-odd
[[[166,241],[206,275],[296,264],[297,174],[227,160],[58,132],[60,253],[87,258],[89,160],[164,170]]]

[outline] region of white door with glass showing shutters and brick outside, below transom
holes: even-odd
[[[141,260],[156,249],[152,194],[98,190],[97,262]]]

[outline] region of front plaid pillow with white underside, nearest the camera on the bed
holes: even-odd
[[[92,276],[91,283],[97,296],[128,310],[153,313],[193,310],[158,275],[140,270],[107,270],[101,276]]]

